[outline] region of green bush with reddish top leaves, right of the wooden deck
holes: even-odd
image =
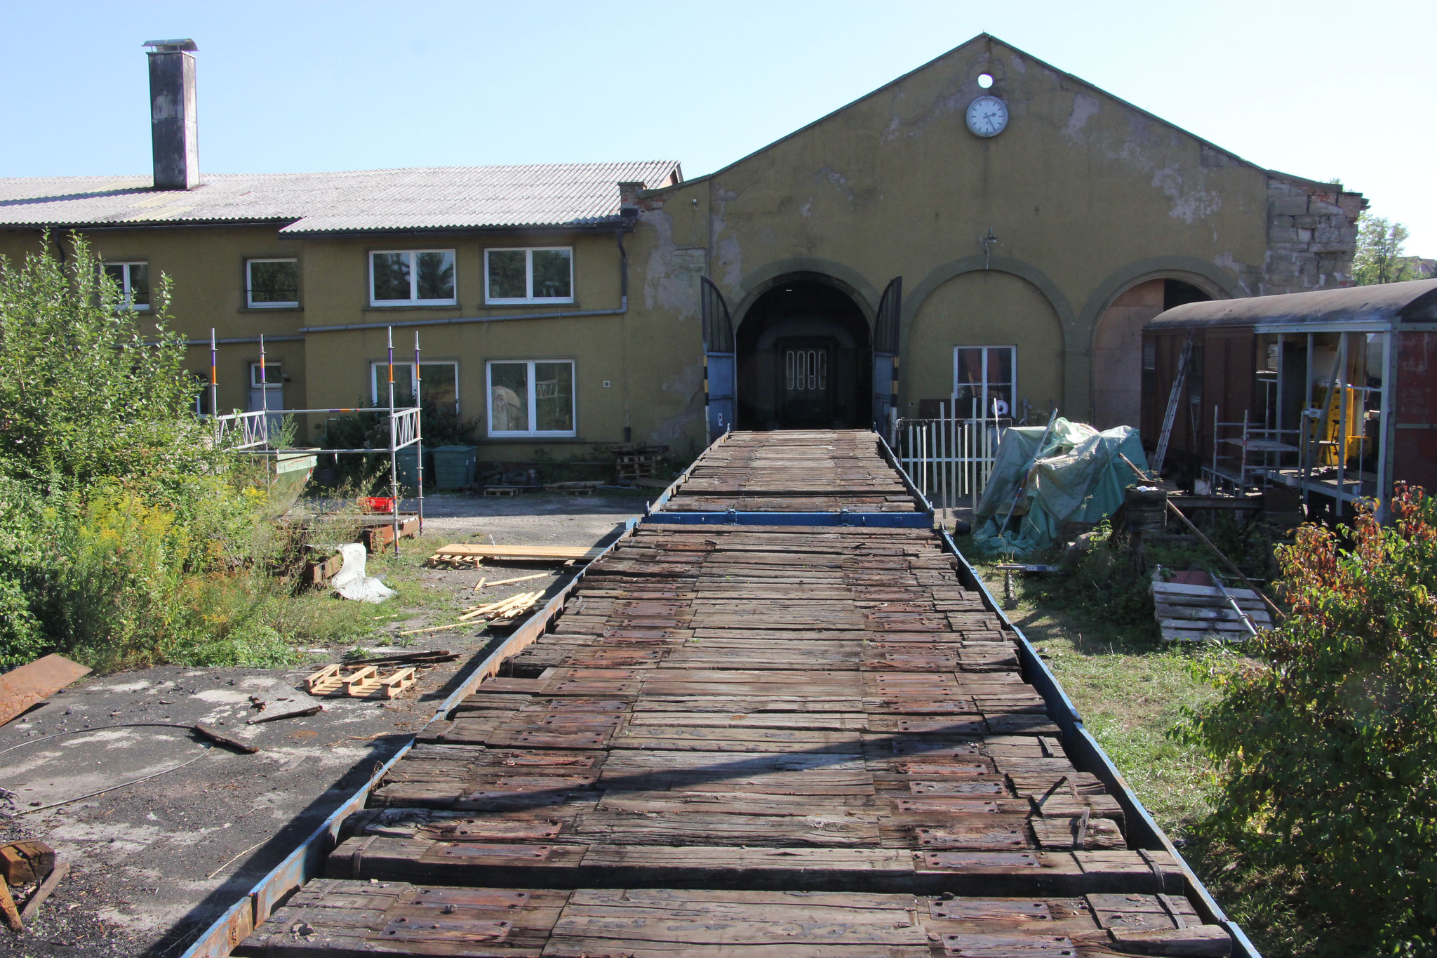
[[[1180,730],[1219,763],[1211,832],[1289,875],[1329,954],[1437,954],[1437,503],[1298,530],[1292,615],[1250,658],[1197,664],[1220,699]]]

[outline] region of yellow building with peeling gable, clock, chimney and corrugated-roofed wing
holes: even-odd
[[[194,368],[221,343],[223,409],[382,401],[389,329],[410,395],[417,330],[424,398],[481,419],[491,461],[940,402],[1135,425],[1148,319],[1349,284],[1365,205],[986,34],[688,181],[673,161],[201,175],[193,43],[154,46],[154,177],[0,180],[0,253],[73,231],[137,302],[172,277]]]

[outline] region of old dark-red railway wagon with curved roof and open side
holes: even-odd
[[[1142,330],[1142,437],[1184,485],[1351,514],[1437,488],[1437,280],[1187,303]]]

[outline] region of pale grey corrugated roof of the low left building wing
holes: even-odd
[[[589,227],[619,213],[619,182],[660,187],[670,159],[208,174],[194,190],[147,177],[0,178],[0,227],[290,221],[283,236]]]

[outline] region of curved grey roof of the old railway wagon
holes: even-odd
[[[1144,329],[1394,322],[1437,322],[1437,279],[1186,303],[1158,313]]]

